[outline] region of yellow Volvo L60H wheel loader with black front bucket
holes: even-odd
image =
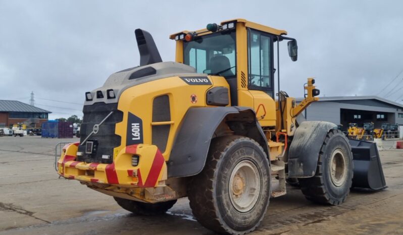
[[[139,215],[188,197],[198,222],[229,234],[256,229],[286,180],[330,205],[351,187],[384,189],[376,145],[300,115],[318,100],[313,78],[299,103],[279,83],[275,92],[279,43],[297,60],[286,34],[244,19],[208,24],[172,34],[176,60],[162,62],[152,36],[135,30],[140,66],[86,92],[80,142],[63,148],[58,173]]]

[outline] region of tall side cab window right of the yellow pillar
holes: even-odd
[[[248,83],[250,90],[273,90],[272,37],[248,30]]]

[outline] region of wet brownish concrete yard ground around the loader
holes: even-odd
[[[186,198],[166,215],[138,217],[110,196],[59,179],[54,146],[77,140],[0,137],[0,234],[214,234],[195,221]],[[343,205],[321,206],[288,187],[251,234],[403,233],[403,150],[387,149],[380,152],[387,190],[355,190]]]

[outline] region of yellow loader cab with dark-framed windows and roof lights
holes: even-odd
[[[231,105],[254,108],[263,116],[262,126],[274,127],[276,114],[265,110],[276,109],[274,77],[279,66],[274,65],[274,56],[278,56],[274,44],[291,40],[283,36],[286,34],[235,19],[208,24],[202,30],[178,32],[170,38],[176,40],[176,62],[194,67],[197,73],[224,77],[230,87]],[[296,41],[293,48],[289,51],[294,52],[294,61]]]

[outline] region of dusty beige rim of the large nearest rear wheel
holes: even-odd
[[[258,167],[249,160],[237,163],[231,172],[229,195],[234,208],[240,212],[251,210],[259,199],[261,177]]]

